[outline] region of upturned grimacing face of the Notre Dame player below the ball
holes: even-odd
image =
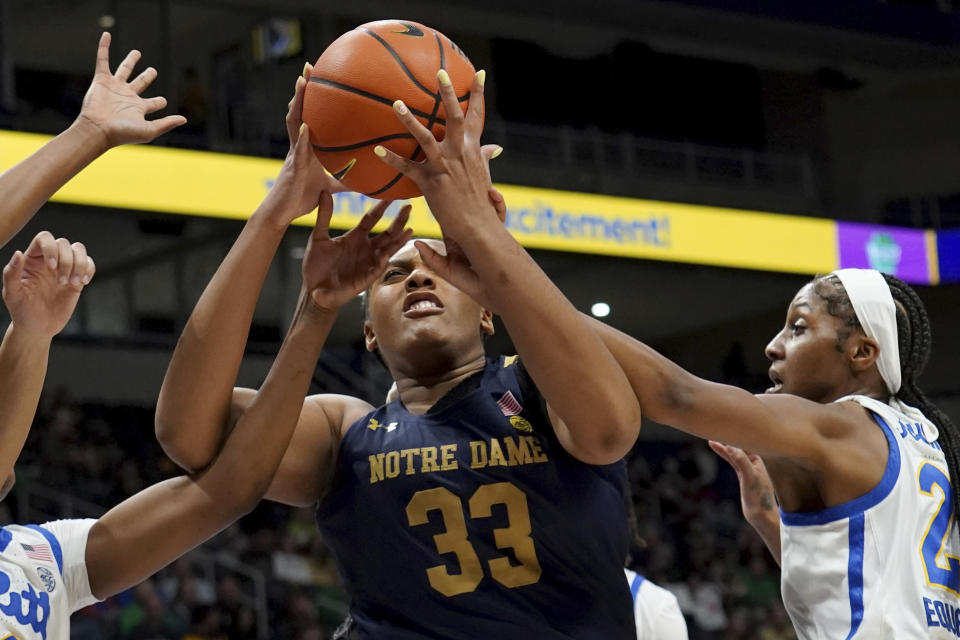
[[[428,241],[439,252],[439,240]],[[430,270],[413,242],[403,246],[368,291],[367,348],[388,364],[397,357],[458,360],[483,353],[481,332],[493,333],[492,316],[470,296]]]

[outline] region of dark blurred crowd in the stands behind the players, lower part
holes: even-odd
[[[642,544],[630,565],[672,591],[692,640],[794,638],[776,564],[740,514],[736,477],[704,443],[642,440],[629,461]],[[177,475],[153,409],[41,403],[5,522],[98,515]],[[311,509],[263,502],[154,578],[74,616],[83,640],[329,638],[347,611]],[[258,602],[261,603],[258,605]]]

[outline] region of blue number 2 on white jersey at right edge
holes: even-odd
[[[950,478],[939,467],[929,462],[920,465],[917,473],[920,493],[936,498],[933,487],[940,487],[940,506],[927,525],[927,533],[920,545],[920,557],[923,558],[923,570],[927,574],[927,584],[946,589],[960,595],[960,559],[944,553],[950,533],[950,521],[953,518],[953,501],[950,490]],[[941,559],[942,557],[942,559]],[[945,566],[944,566],[945,565]]]

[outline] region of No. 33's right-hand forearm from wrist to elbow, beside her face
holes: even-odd
[[[464,238],[465,255],[579,457],[619,459],[640,428],[623,369],[503,225],[485,225]]]

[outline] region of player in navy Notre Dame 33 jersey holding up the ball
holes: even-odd
[[[466,118],[449,79],[439,81],[454,114],[443,142],[397,104],[426,161],[377,153],[417,182],[447,242],[407,244],[386,269],[343,282],[310,307],[322,338],[339,308],[367,290],[366,345],[379,351],[399,398],[374,409],[351,397],[308,397],[268,497],[317,506],[352,599],[350,637],[635,638],[621,459],[639,430],[636,398],[599,338],[497,219],[487,169],[495,149],[479,144],[483,73]],[[288,113],[291,136],[303,84]],[[319,194],[337,186],[319,164],[314,171],[303,206],[245,226],[181,336],[157,435],[188,469],[215,460],[262,393],[233,385],[284,230],[318,197],[321,211],[331,206]],[[491,292],[486,306],[434,271],[445,251],[476,267]],[[311,258],[303,269],[319,276],[323,265]],[[493,310],[519,359],[486,357]]]

